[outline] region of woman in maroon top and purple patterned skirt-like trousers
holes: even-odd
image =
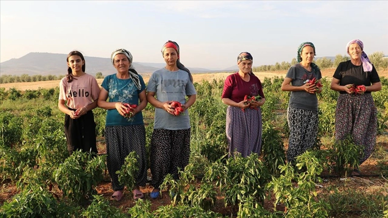
[[[252,73],[253,57],[242,52],[237,57],[239,71],[229,75],[224,83],[222,102],[227,104],[226,136],[229,156],[234,152],[247,157],[252,152],[260,154],[262,148],[262,112],[260,106],[265,103],[262,83]],[[244,99],[245,96],[260,96],[256,99]]]

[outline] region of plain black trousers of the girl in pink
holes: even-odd
[[[69,109],[76,111],[72,108]],[[72,154],[77,149],[83,152],[91,151],[96,154],[98,153],[96,146],[96,124],[92,111],[88,111],[78,119],[72,119],[66,114],[64,129],[69,154]]]

